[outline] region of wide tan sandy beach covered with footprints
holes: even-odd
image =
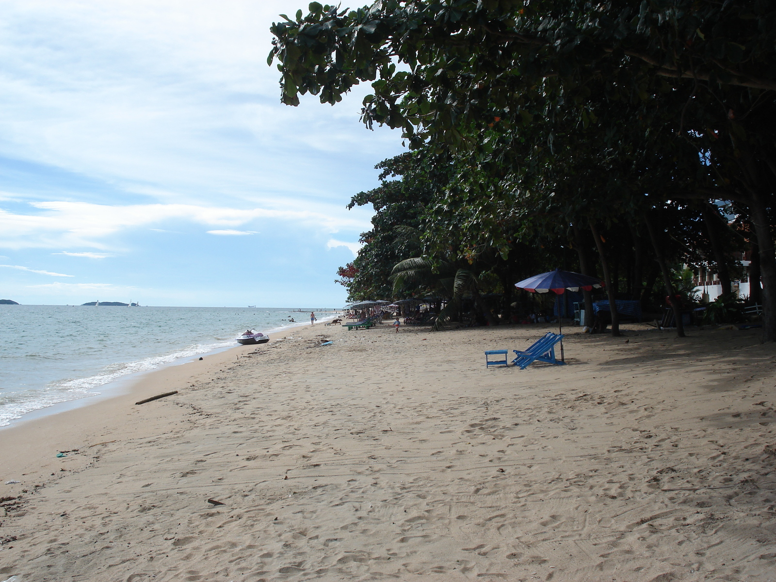
[[[625,328],[318,324],[4,429],[0,580],[776,580],[776,348]]]

